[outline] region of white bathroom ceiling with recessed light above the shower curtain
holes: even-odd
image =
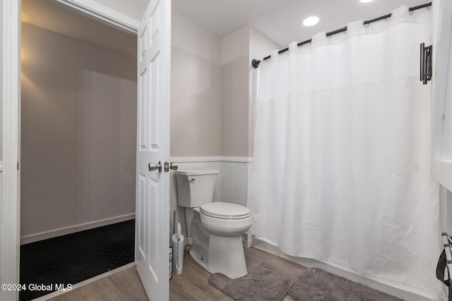
[[[317,32],[344,27],[355,20],[386,15],[399,6],[417,6],[428,0],[172,0],[172,12],[224,37],[251,24],[282,47],[302,42]],[[320,22],[304,27],[309,16]]]

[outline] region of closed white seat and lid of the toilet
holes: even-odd
[[[201,214],[215,219],[246,219],[249,209],[239,204],[227,202],[212,202],[200,207]]]

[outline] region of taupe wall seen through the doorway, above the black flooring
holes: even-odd
[[[136,58],[26,23],[22,49],[21,235],[133,214]]]

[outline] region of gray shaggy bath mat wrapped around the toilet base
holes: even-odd
[[[246,262],[248,274],[231,279],[223,274],[210,275],[208,281],[234,300],[280,301],[294,284],[290,278],[278,272]]]

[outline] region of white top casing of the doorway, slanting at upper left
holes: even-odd
[[[131,35],[138,35],[140,21],[119,13],[93,0],[50,0],[105,25],[117,28]]]

